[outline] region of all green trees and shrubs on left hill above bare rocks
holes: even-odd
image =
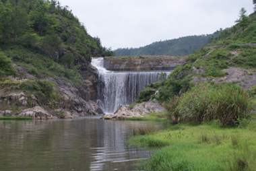
[[[36,77],[50,75],[81,85],[91,57],[113,56],[58,1],[0,1],[0,75],[15,75],[11,60]]]

